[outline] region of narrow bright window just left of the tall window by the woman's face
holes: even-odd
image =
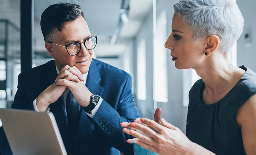
[[[137,47],[137,96],[138,100],[147,99],[146,80],[146,41],[142,39]]]

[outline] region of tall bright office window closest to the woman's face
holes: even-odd
[[[166,11],[158,16],[156,22],[156,46],[153,54],[154,67],[154,100],[157,102],[168,101],[167,83],[167,49],[164,44],[167,40],[167,15]]]

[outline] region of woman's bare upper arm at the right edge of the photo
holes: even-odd
[[[241,127],[244,150],[247,155],[256,152],[256,94],[239,108],[236,121]]]

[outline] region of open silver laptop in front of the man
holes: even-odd
[[[0,108],[0,119],[13,155],[67,155],[51,112]]]

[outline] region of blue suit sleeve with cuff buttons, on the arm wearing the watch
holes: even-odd
[[[125,134],[120,123],[133,122],[140,117],[133,100],[131,79],[131,76],[128,75],[116,109],[103,100],[94,117],[88,117],[95,126],[99,126],[104,137],[109,140],[111,145],[125,155],[133,155],[133,144],[128,144],[126,140],[134,137]]]

